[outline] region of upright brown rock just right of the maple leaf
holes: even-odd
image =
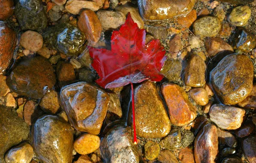
[[[189,58],[183,74],[185,85],[190,87],[201,87],[205,84],[206,64],[204,60],[196,54]]]

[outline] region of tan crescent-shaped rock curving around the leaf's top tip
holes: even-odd
[[[144,21],[140,17],[139,9],[132,6],[131,3],[126,3],[125,5],[117,6],[116,11],[120,11],[120,12],[124,13],[125,15],[127,15],[128,12],[130,12],[132,20],[135,23],[137,23],[137,25],[140,29],[143,29]]]

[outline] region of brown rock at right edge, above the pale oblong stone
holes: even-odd
[[[253,85],[251,93],[238,106],[245,109],[256,109],[256,85]]]

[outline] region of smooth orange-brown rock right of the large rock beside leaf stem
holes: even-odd
[[[172,124],[184,126],[195,119],[197,109],[189,101],[189,96],[180,86],[165,83],[161,86],[161,94],[168,106]]]

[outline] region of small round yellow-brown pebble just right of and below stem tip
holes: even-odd
[[[160,146],[156,142],[148,141],[144,145],[145,157],[148,160],[154,160],[160,153]]]

